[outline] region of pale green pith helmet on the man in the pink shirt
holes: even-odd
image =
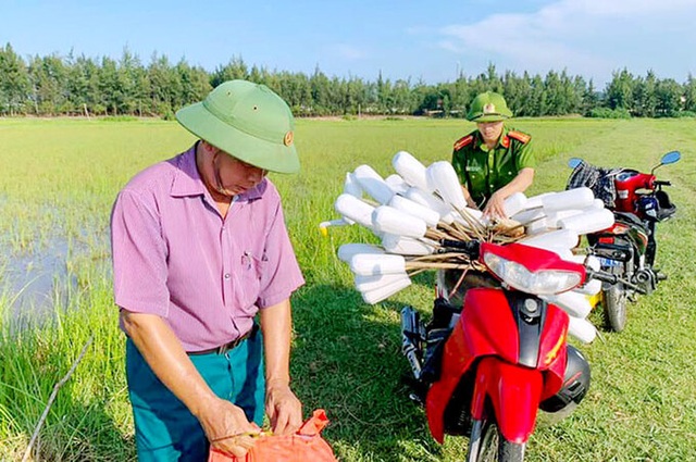
[[[279,173],[300,170],[290,108],[264,85],[225,82],[202,102],[179,109],[176,120],[200,139],[248,164]]]

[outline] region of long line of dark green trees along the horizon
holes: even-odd
[[[240,57],[213,72],[184,59],[170,62],[153,53],[147,64],[124,48],[121,59],[50,54],[26,60],[10,43],[0,47],[0,115],[137,115],[172,120],[174,111],[200,101],[213,87],[234,78],[265,84],[299,116],[433,115],[463,117],[471,100],[486,90],[502,93],[517,116],[581,114],[617,118],[676,117],[696,113],[696,79],[680,84],[645,77],[626,68],[612,74],[606,87],[591,79],[549,71],[500,74],[494,64],[480,75],[462,71],[453,82],[428,85],[403,76],[395,82],[311,75],[249,66]],[[623,118],[623,116],[622,116]]]

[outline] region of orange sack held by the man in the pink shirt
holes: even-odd
[[[327,424],[326,413],[318,409],[295,435],[262,436],[244,459],[211,449],[208,462],[337,462],[320,435]]]

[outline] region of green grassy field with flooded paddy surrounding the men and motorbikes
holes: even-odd
[[[272,175],[307,285],[293,299],[294,388],[309,415],[326,410],[325,438],[346,462],[461,461],[465,438],[437,445],[401,377],[399,310],[427,313],[433,275],[376,305],[352,288],[336,258],[363,230],[331,228],[346,172],[366,163],[383,176],[407,150],[424,164],[449,160],[473,128],[453,120],[304,121],[296,142],[302,171]],[[696,460],[696,122],[517,120],[538,161],[529,195],[561,190],[570,157],[658,170],[679,211],[658,229],[669,279],[630,305],[621,334],[579,345],[593,367],[589,392],[557,424],[540,422],[529,461]],[[94,338],[60,388],[34,447],[36,461],[134,461],[124,336],[111,295],[109,215],[136,172],[187,149],[176,123],[148,120],[0,120],[0,461],[22,460],[53,386]],[[602,324],[600,312],[591,319]]]

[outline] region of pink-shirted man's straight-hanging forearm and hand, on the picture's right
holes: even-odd
[[[275,434],[294,434],[302,425],[302,404],[290,390],[290,300],[260,310],[265,352],[265,410]]]

